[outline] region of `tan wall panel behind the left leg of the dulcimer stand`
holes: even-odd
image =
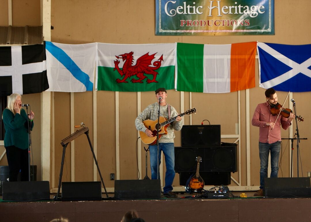
[[[63,155],[63,146],[60,144],[61,141],[71,134],[70,132],[70,93],[65,92],[54,92],[54,134],[55,140],[55,186],[58,187],[59,173]],[[71,181],[71,143],[68,144],[65,152],[65,160],[63,166],[63,177],[62,182]],[[52,174],[52,172],[51,172]]]

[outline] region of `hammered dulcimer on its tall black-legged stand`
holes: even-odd
[[[83,123],[81,123],[81,124],[83,124]],[[64,138],[62,140],[62,142],[60,143],[63,146],[63,156],[62,156],[62,162],[61,162],[60,173],[59,173],[57,197],[54,197],[54,198],[57,198],[59,200],[62,199],[60,197],[59,193],[60,193],[60,186],[61,186],[61,183],[62,183],[63,166],[64,166],[64,160],[65,160],[66,147],[67,147],[68,143],[70,143],[71,141],[73,141],[75,138],[77,138],[78,136],[82,135],[83,133],[86,134],[87,140],[89,141],[89,144],[90,144],[90,147],[91,147],[91,151],[92,151],[92,154],[93,154],[93,157],[94,157],[94,160],[95,160],[95,164],[97,166],[97,170],[98,170],[98,173],[100,175],[100,180],[103,183],[103,186],[104,186],[104,189],[105,189],[105,193],[106,193],[106,197],[108,197],[107,190],[106,190],[106,187],[105,187],[105,184],[104,184],[104,180],[103,180],[103,177],[101,176],[100,169],[99,169],[99,166],[98,166],[98,162],[96,160],[94,149],[93,149],[90,137],[89,137],[89,128],[84,126],[83,128],[77,130],[76,132],[74,132],[71,135],[69,135],[66,138]]]

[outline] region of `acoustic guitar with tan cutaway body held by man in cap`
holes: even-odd
[[[156,136],[157,136],[157,131],[159,130],[159,140],[160,137],[167,134],[167,127],[169,126],[169,123],[173,122],[176,120],[178,116],[182,117],[184,115],[191,115],[196,112],[195,108],[192,108],[184,113],[181,113],[169,120],[167,120],[165,117],[160,116],[159,120],[159,125],[158,125],[158,120],[151,120],[151,119],[146,119],[142,121],[144,123],[145,127],[148,128],[152,132],[152,137],[147,136],[145,132],[139,131],[140,138],[142,139],[142,142],[145,144],[150,144],[150,145],[155,145],[156,144]]]

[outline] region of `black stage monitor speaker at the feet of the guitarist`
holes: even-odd
[[[114,197],[120,199],[159,199],[160,180],[115,180]]]

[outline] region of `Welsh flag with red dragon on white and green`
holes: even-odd
[[[98,43],[96,90],[174,89],[176,43]]]

